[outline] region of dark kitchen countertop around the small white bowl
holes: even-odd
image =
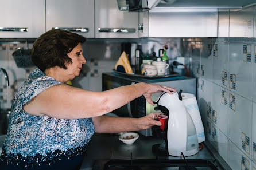
[[[152,153],[152,145],[162,143],[161,139],[140,135],[135,143],[127,145],[118,139],[118,135],[95,134],[87,147],[81,170],[91,170],[95,160],[130,159],[156,159]],[[173,156],[158,156],[158,159],[179,159]],[[213,159],[211,152],[204,147],[199,153],[188,156],[186,159]]]

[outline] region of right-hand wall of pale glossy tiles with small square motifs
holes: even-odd
[[[234,170],[256,168],[255,11],[227,13],[230,37],[203,39],[192,56],[205,135]]]

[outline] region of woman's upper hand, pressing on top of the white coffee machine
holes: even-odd
[[[143,96],[152,105],[154,105],[154,102],[151,99],[151,96],[153,93],[166,92],[166,93],[172,94],[172,92],[170,91],[176,92],[175,88],[170,88],[168,86],[153,85],[153,84],[148,84],[148,85],[149,85],[149,90],[146,93],[144,93]]]

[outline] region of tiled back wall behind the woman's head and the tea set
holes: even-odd
[[[141,38],[141,39],[87,39],[83,46],[83,55],[87,63],[83,65],[80,75],[72,80],[74,86],[79,88],[100,91],[102,90],[102,73],[111,72],[114,69],[123,49],[131,49],[129,58],[131,65],[134,65],[135,49],[138,44],[142,45],[143,56],[155,52],[158,56],[158,50],[164,45],[168,45],[167,55],[171,60],[177,56],[187,58],[187,65],[190,64],[189,57],[193,48],[196,48],[197,42],[195,38]],[[200,40],[200,39],[199,39]],[[31,41],[31,40],[30,40]],[[127,48],[126,46],[129,46]],[[18,89],[21,88],[26,77],[34,68],[24,69],[18,68],[12,56],[15,48],[23,47],[31,49],[33,41],[29,43],[19,41],[1,42],[0,39],[0,68],[6,69],[9,75],[10,86],[6,88],[5,78],[0,72],[0,108],[10,108],[11,100]],[[198,48],[198,47],[197,47]],[[197,53],[198,49],[193,53]],[[189,65],[192,67],[191,65]]]

